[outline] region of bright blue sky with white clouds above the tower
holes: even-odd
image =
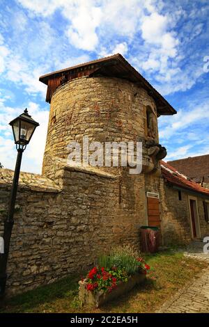
[[[0,162],[14,168],[8,122],[40,122],[22,170],[40,173],[49,104],[40,75],[121,53],[178,111],[159,118],[169,159],[209,153],[208,0],[1,0]],[[205,61],[204,61],[205,60]]]

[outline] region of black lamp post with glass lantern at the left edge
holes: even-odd
[[[15,200],[17,195],[17,185],[20,175],[20,166],[22,161],[22,152],[24,152],[26,145],[29,144],[33,132],[36,127],[39,126],[38,122],[35,122],[31,115],[29,115],[27,109],[19,117],[10,122],[13,127],[13,136],[15,138],[15,144],[17,149],[17,161],[15,166],[15,173],[13,177],[13,186],[10,193],[8,217],[4,221],[3,243],[4,253],[0,254],[0,298],[3,298],[6,288],[6,266],[8,261],[8,253],[10,247],[10,238],[14,224],[14,212],[15,212]]]

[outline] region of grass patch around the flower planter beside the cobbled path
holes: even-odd
[[[166,250],[145,255],[151,270],[143,285],[98,309],[82,307],[78,298],[77,278],[38,287],[7,301],[0,312],[155,312],[164,301],[192,280],[208,264],[183,253]]]

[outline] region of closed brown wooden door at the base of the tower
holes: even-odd
[[[157,198],[147,198],[148,226],[160,227],[160,202]]]

